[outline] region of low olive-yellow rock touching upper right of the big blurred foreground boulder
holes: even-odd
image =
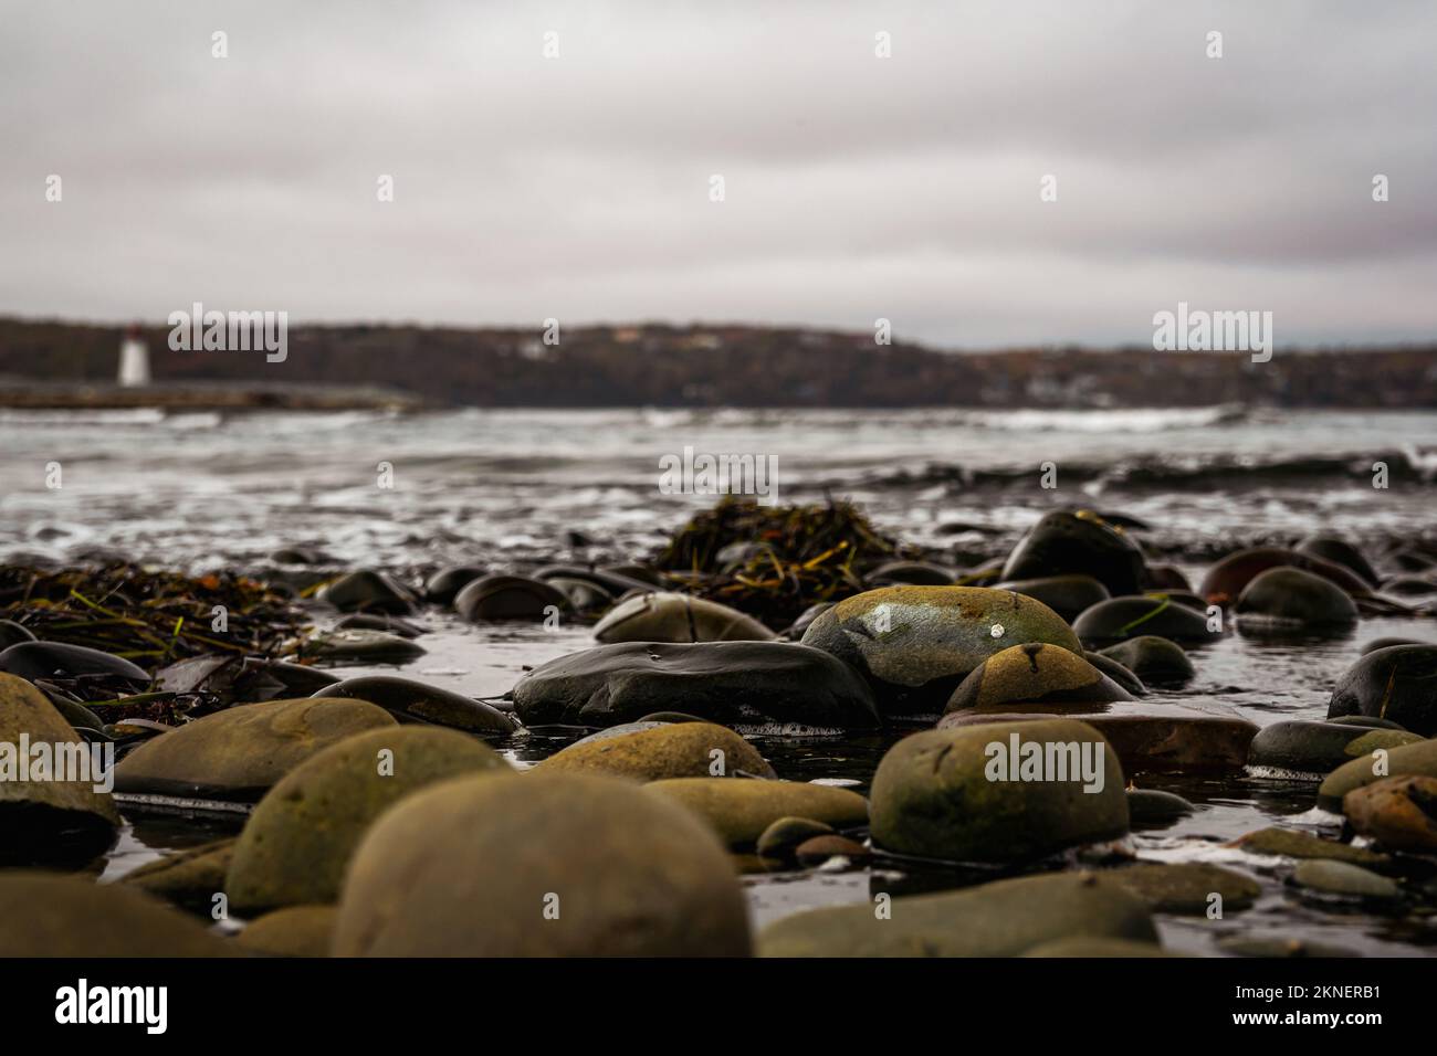
[[[829,784],[678,777],[645,784],[644,790],[681,803],[736,848],[756,843],[780,818],[809,818],[835,829],[868,822],[868,800]]]

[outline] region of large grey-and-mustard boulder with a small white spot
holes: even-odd
[[[838,657],[868,680],[885,717],[930,721],[984,659],[1025,642],[1082,651],[1072,628],[1042,602],[984,586],[867,590],[803,632],[803,645]]]

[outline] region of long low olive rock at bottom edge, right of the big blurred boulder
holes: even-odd
[[[1061,938],[1157,942],[1141,901],[1091,874],[1020,876],[940,895],[786,917],[759,935],[763,957],[1017,957]]]

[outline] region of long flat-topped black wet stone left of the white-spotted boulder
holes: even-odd
[[[836,731],[881,723],[852,668],[787,642],[601,645],[535,668],[513,695],[527,726],[616,726],[668,708],[729,727]]]

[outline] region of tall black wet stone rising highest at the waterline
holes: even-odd
[[[1114,596],[1137,593],[1144,579],[1142,550],[1124,529],[1095,513],[1049,513],[1013,547],[1003,579],[1065,575],[1094,576]]]

